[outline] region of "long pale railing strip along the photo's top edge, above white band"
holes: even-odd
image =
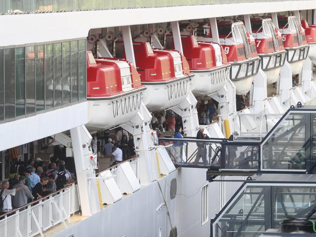
[[[273,1],[274,0],[2,0],[0,2],[0,14],[174,7],[190,5],[214,5]]]

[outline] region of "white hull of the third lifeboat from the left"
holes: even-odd
[[[229,78],[230,65],[213,70],[191,70],[194,73],[192,79],[192,92],[194,95],[209,95],[219,91]]]

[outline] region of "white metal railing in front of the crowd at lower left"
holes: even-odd
[[[0,219],[0,237],[33,237],[58,223],[70,222],[70,215],[79,211],[78,186],[73,184],[54,195],[17,209],[13,215]],[[12,214],[12,212],[11,212]]]

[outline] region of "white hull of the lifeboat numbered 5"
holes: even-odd
[[[292,67],[292,75],[297,75],[302,71],[303,61],[308,55],[309,46],[287,48],[287,61]]]

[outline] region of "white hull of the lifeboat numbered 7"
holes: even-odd
[[[261,59],[261,69],[267,76],[267,83],[272,84],[278,81],[281,67],[286,59],[286,51],[272,54],[259,55]]]

